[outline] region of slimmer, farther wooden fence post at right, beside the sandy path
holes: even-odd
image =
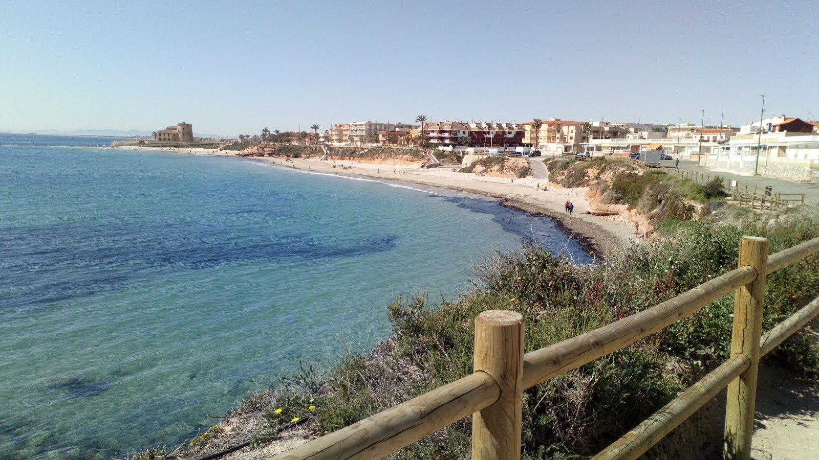
[[[750,265],[756,268],[757,278],[736,290],[731,355],[744,354],[750,359],[751,365],[728,386],[723,456],[730,459],[751,458],[767,251],[768,241],[765,238],[742,237],[740,240],[739,266]]]

